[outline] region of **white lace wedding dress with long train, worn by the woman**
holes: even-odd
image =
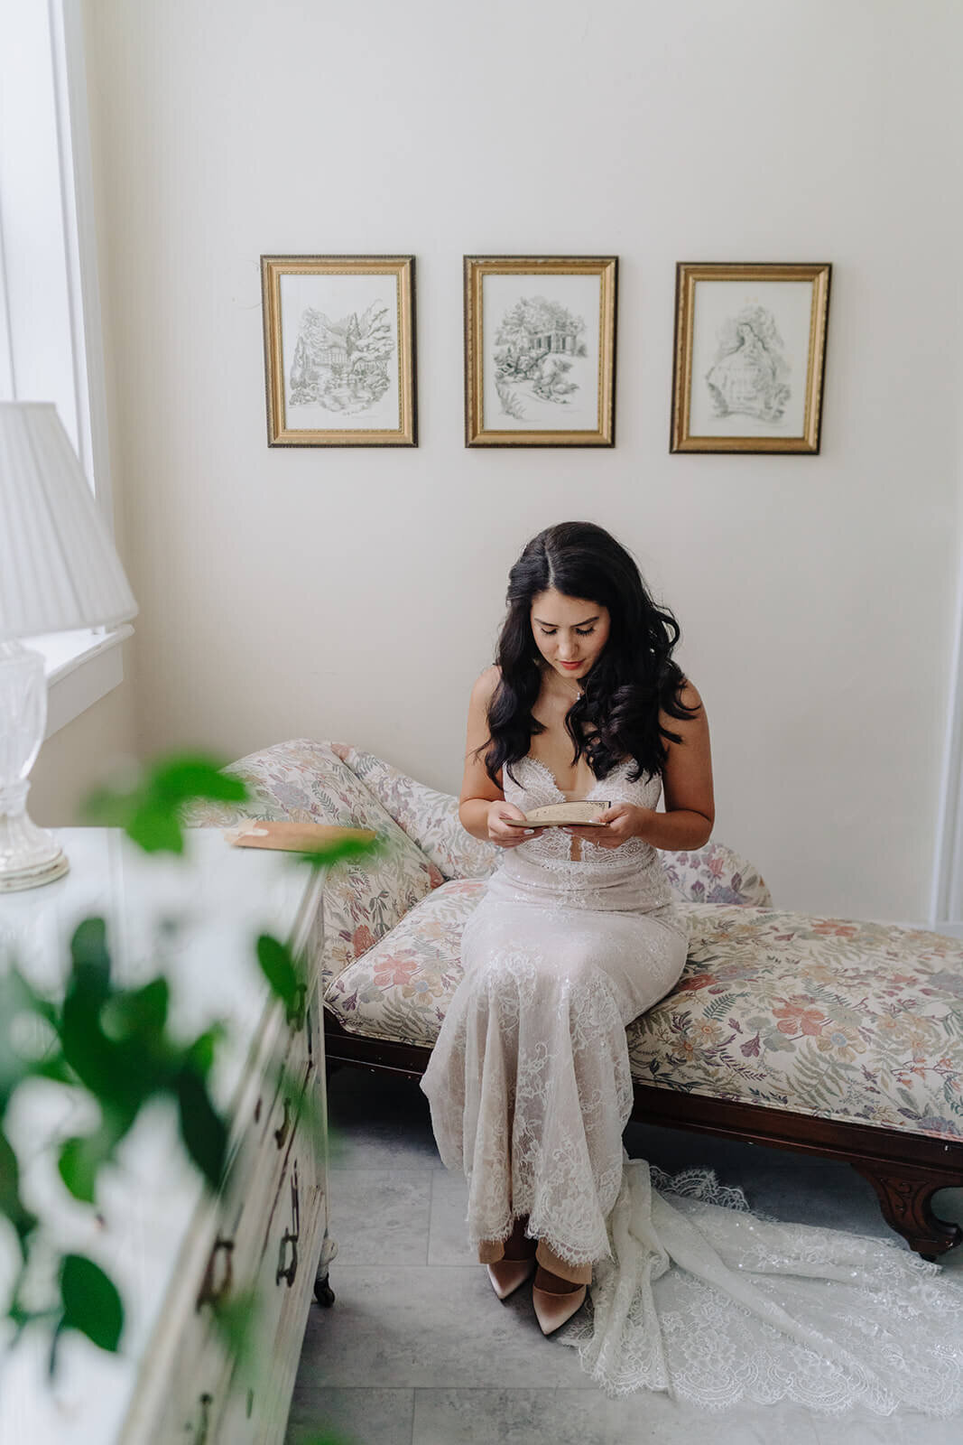
[[[588,796],[654,808],[661,780],[628,772]],[[536,759],[514,773],[505,798],[523,811],[563,798]],[[684,910],[650,844],[583,842],[573,860],[570,842],[546,829],[505,851],[422,1079],[442,1160],[469,1182],[472,1243],[527,1214],[560,1259],[593,1264],[557,1338],[611,1394],[963,1412],[963,1285],[938,1264],[752,1212],[712,1170],[629,1160],[625,1026],[679,980]]]

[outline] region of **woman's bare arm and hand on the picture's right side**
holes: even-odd
[[[572,834],[598,842],[603,848],[618,848],[627,838],[641,838],[644,842],[651,842],[653,848],[666,848],[670,853],[702,848],[709,842],[716,821],[709,720],[692,682],[686,682],[680,696],[687,708],[697,705],[699,712],[693,718],[658,714],[660,724],[681,738],[680,743],[666,740],[668,750],[663,769],[666,812],[637,808],[634,803],[615,803],[602,814],[608,824],[605,832],[598,828],[572,828],[569,829]]]

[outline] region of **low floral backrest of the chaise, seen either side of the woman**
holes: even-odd
[[[331,747],[446,879],[488,877],[498,861],[498,850],[465,832],[456,798],[426,788],[374,753],[364,753],[348,743],[332,743]],[[772,902],[752,864],[723,842],[709,842],[693,853],[664,853],[661,860],[680,899],[757,903],[762,907]]]

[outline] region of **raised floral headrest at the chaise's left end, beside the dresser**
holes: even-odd
[[[308,738],[279,743],[241,757],[225,772],[244,779],[250,802],[195,803],[185,812],[188,825],[228,828],[240,818],[290,818],[372,828],[383,842],[375,857],[347,860],[328,871],[322,987],[443,881],[329,744]]]

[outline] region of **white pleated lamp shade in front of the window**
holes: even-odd
[[[113,627],[137,603],[52,402],[0,402],[0,642]]]

